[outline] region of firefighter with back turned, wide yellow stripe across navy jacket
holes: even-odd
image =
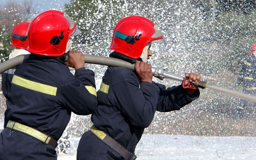
[[[84,68],[82,52],[69,52],[69,37],[78,33],[76,23],[60,11],[43,12],[29,24],[31,55],[17,66],[7,94],[1,160],[56,160],[71,112],[89,115],[96,108],[94,72]]]

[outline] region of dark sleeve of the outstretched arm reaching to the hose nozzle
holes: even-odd
[[[193,95],[189,96],[186,90],[181,86],[173,86],[165,89],[163,84],[156,84],[159,89],[159,98],[157,102],[157,111],[169,112],[173,110],[180,110],[180,108],[196,100],[199,95],[199,89],[196,89]]]

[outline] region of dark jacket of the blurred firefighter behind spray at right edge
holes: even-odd
[[[243,90],[246,93],[256,93],[256,56],[249,55],[246,57],[237,84],[243,84]]]

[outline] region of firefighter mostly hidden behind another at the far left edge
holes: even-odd
[[[29,22],[22,22],[17,24],[12,29],[11,46],[15,47],[15,49],[10,53],[9,59],[12,59],[22,54],[29,54],[29,52],[26,50],[28,47],[28,25]],[[13,67],[2,74],[2,91],[5,98],[8,91],[10,90],[12,76],[15,72],[15,69],[16,67]],[[6,123],[7,120],[4,119],[4,126],[6,125]]]

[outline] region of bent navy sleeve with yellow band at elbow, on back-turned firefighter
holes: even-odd
[[[92,114],[98,103],[94,72],[89,69],[76,69],[74,80],[57,92],[63,106],[77,115]]]

